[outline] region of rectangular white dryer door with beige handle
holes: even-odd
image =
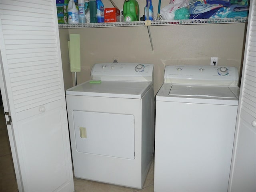
[[[73,111],[78,152],[134,159],[134,116]]]

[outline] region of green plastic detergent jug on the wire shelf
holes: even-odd
[[[136,0],[125,0],[123,6],[125,21],[138,21],[140,16],[139,4]]]

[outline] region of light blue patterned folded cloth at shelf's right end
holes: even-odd
[[[229,7],[220,8],[210,19],[247,17],[248,11],[232,11]]]

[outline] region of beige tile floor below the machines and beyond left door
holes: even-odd
[[[0,119],[0,191],[17,192],[3,106],[1,106]],[[154,192],[154,162],[150,166],[148,176],[141,190],[78,178],[74,178],[74,186],[76,192]]]

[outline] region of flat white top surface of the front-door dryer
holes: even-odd
[[[87,81],[66,90],[66,95],[141,99],[152,84],[152,82],[101,81],[101,83],[90,83]]]

